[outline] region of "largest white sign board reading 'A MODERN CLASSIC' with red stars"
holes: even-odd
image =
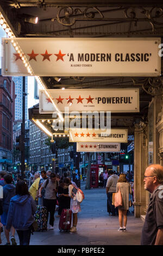
[[[3,76],[29,76],[22,58],[35,76],[161,74],[160,38],[5,38],[2,44]]]

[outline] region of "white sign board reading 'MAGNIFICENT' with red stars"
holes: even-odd
[[[70,129],[69,142],[128,142],[127,129]]]

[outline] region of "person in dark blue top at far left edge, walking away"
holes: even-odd
[[[4,233],[7,239],[7,243],[5,245],[10,245],[9,231],[6,229],[5,226],[7,223],[10,199],[11,197],[15,196],[15,186],[11,184],[12,176],[10,174],[4,175],[4,182],[5,182],[5,185],[3,187],[3,199],[2,199],[3,214],[1,215],[1,222],[4,225]],[[11,236],[12,245],[16,245],[15,236],[14,236],[15,235],[14,227],[11,227],[11,234],[12,234]]]

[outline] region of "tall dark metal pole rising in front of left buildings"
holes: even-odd
[[[26,77],[23,76],[23,102],[22,102],[22,124],[21,124],[21,136],[22,136],[22,151],[21,151],[21,176],[24,179],[25,172],[25,105],[26,105]]]

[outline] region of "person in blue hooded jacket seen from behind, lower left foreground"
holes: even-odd
[[[6,229],[13,226],[18,234],[20,245],[29,245],[31,225],[35,221],[36,204],[24,181],[16,184],[16,196],[11,198]]]

